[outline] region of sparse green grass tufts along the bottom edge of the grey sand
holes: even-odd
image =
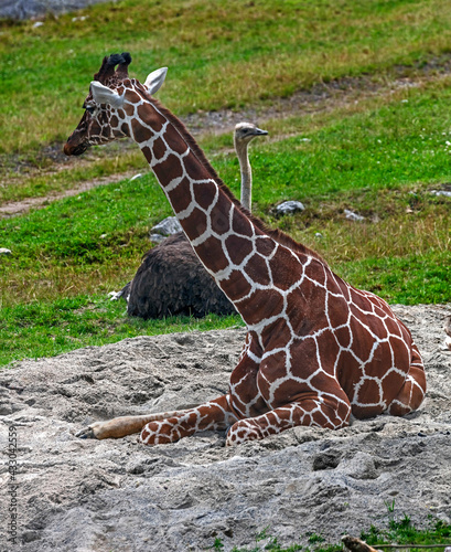
[[[379,529],[372,524],[368,531],[362,531],[359,538],[376,549],[386,544],[405,544],[406,548],[404,550],[419,552],[422,549],[417,546],[443,544],[442,548],[438,546],[433,549],[437,552],[443,552],[445,545],[451,543],[451,526],[429,516],[427,526],[425,528],[417,528],[407,514],[400,520],[396,520],[394,516],[390,516],[385,529]],[[301,544],[298,541],[289,545],[281,545],[277,537],[270,534],[269,528],[257,534],[255,541],[256,543],[251,548],[234,546],[230,550],[232,552],[297,552],[301,550],[303,552],[341,552],[346,550],[342,543],[327,544],[326,540],[318,533],[310,533],[301,538],[300,541],[307,541],[305,544]],[[216,538],[210,550],[218,552],[225,550],[223,539]],[[387,550],[390,549],[388,548]]]

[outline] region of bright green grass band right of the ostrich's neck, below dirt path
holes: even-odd
[[[294,136],[260,146],[253,157],[257,203],[365,190],[371,192],[366,211],[383,215],[374,203],[378,191],[448,181],[450,102],[450,88],[433,83],[385,97],[384,104],[379,99],[375,108],[369,104],[361,112],[354,107],[283,121]],[[237,179],[237,163],[217,162],[226,181]]]

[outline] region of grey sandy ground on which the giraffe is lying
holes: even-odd
[[[336,432],[298,427],[225,448],[203,434],[144,447],[135,436],[80,440],[86,424],[181,408],[227,382],[243,329],[126,339],[0,372],[0,551],[140,552],[280,543],[321,533],[337,542],[387,506],[416,523],[451,522],[450,306],[396,306],[426,361],[428,395],[405,418],[355,421]],[[18,438],[18,540],[8,542],[8,428]]]

